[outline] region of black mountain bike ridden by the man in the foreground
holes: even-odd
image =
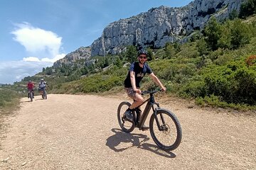
[[[149,120],[151,137],[161,149],[171,151],[181,144],[181,124],[174,113],[164,108],[160,108],[159,103],[156,103],[154,94],[158,91],[161,90],[142,91],[142,95],[150,95],[150,97],[144,101],[146,107],[144,108],[142,116],[140,116],[142,111],[140,111],[139,107],[144,105],[144,103],[132,110],[133,120],[128,120],[124,112],[131,106],[131,103],[123,101],[117,108],[117,119],[124,132],[132,132],[134,128],[139,128],[139,130],[141,130],[152,108],[153,113]]]

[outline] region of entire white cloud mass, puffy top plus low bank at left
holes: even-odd
[[[21,61],[0,62],[0,84],[12,84],[24,77],[42,72],[43,67],[50,67],[53,62],[65,57],[60,52],[61,37],[55,33],[34,28],[29,23],[16,24],[11,32],[14,40],[26,48],[30,57],[23,57]]]

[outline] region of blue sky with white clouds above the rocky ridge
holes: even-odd
[[[192,0],[1,0],[0,84],[41,72],[114,21]]]

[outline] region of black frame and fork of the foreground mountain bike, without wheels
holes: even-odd
[[[144,91],[144,92],[148,93],[148,91]],[[156,92],[156,91],[155,91],[155,92]],[[155,93],[155,92],[154,92],[154,93]],[[159,106],[159,103],[156,103],[156,101],[155,101],[155,99],[154,99],[154,93],[149,93],[150,97],[149,97],[148,99],[146,99],[146,101],[144,101],[144,102],[140,105],[140,106],[142,106],[142,105],[144,105],[144,103],[146,103],[146,107],[144,108],[144,111],[143,111],[143,113],[142,113],[141,118],[139,118],[139,122],[138,122],[138,120],[137,120],[137,121],[135,121],[135,123],[137,123],[137,127],[138,127],[138,128],[142,128],[142,126],[144,125],[144,123],[145,123],[145,121],[146,121],[146,118],[147,118],[147,116],[149,115],[149,112],[150,112],[150,110],[151,110],[151,108],[152,108],[153,114],[154,114],[155,119],[156,119],[156,124],[157,124],[159,130],[162,131],[163,128],[161,128],[161,126],[160,126],[160,124],[159,124],[159,120],[158,120],[158,118],[157,118],[157,116],[156,116],[156,112],[157,112],[157,110],[160,109],[160,106]],[[155,105],[157,106],[156,108],[154,107]],[[138,106],[137,108],[139,108],[140,106]],[[137,112],[134,111],[134,113],[137,113]],[[138,118],[138,116],[139,116],[139,114],[137,113],[136,118]],[[163,115],[161,114],[160,116],[161,116],[161,120],[162,120],[163,123],[165,124]]]

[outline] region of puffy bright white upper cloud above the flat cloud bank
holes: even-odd
[[[14,40],[26,48],[28,55],[37,56],[39,59],[53,59],[59,55],[62,38],[49,30],[35,28],[30,23],[16,24],[16,29],[11,32]]]

